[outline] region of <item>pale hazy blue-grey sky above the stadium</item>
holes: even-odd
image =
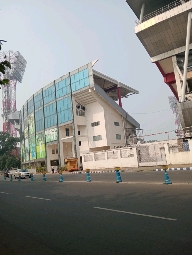
[[[99,59],[95,70],[139,91],[122,102],[144,135],[174,130],[172,92],[135,35],[135,20],[125,0],[2,1],[2,50],[19,51],[27,61],[17,83],[17,110],[53,80]],[[172,132],[146,140],[174,137]]]

